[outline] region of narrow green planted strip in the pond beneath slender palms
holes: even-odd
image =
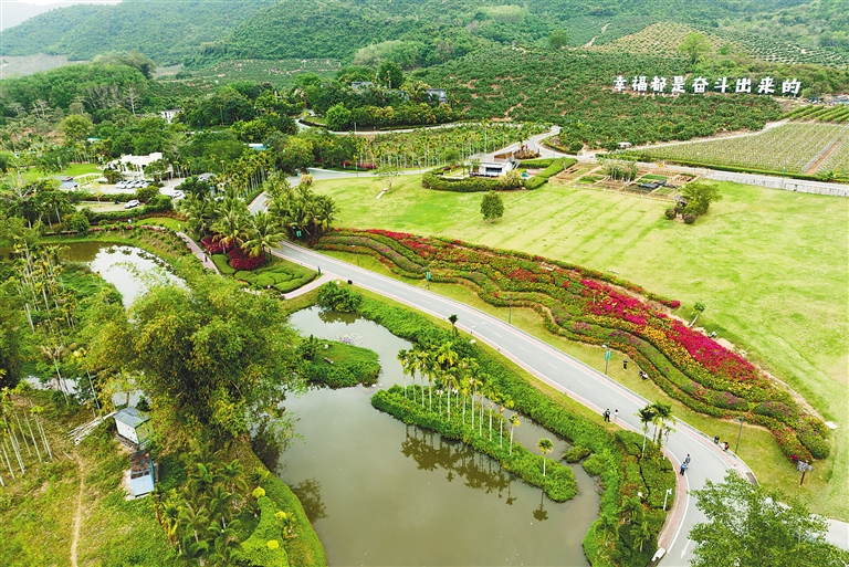
[[[421,388],[412,387],[412,391],[421,391]],[[459,412],[454,412],[449,420],[448,416],[422,408],[415,401],[416,395],[412,398],[405,398],[402,392],[402,388],[398,385],[388,390],[378,390],[371,397],[371,406],[407,424],[430,429],[447,439],[462,441],[475,451],[492,456],[501,463],[504,470],[516,474],[526,484],[543,489],[554,502],[566,502],[574,498],[578,493],[575,473],[568,466],[546,458],[545,476],[543,476],[543,455],[534,454],[524,445],[515,442],[511,452],[510,434],[506,435],[506,439],[502,438],[500,444],[485,435],[479,435],[470,426],[461,423]],[[503,420],[501,416],[493,416],[493,419]],[[505,429],[510,431],[509,428]],[[493,434],[497,437],[497,430]]]

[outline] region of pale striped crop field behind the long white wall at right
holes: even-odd
[[[818,170],[849,170],[849,126],[790,123],[754,136],[650,148],[641,158],[804,174],[836,143],[840,146]]]

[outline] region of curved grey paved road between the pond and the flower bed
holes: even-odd
[[[619,424],[640,431],[640,422],[635,413],[644,407],[648,400],[542,340],[507,325],[504,321],[424,290],[290,243],[284,243],[277,252],[287,260],[313,269],[321,266],[326,274],[333,274],[342,280],[352,280],[357,286],[375,291],[443,319],[455,313],[459,316],[458,327],[472,334],[475,339],[499,348],[502,354],[539,379],[599,413],[606,408],[611,412],[618,409]],[[612,363],[620,364],[621,357],[614,358]],[[636,372],[637,369],[635,368],[633,371]],[[686,474],[683,477],[678,476],[679,498],[673,517],[680,516],[681,521],[671,522],[670,524],[673,525],[660,537],[661,546],[668,549],[661,564],[670,566],[688,564],[693,544],[688,539],[686,534],[693,524],[704,519],[702,513],[695,510],[694,498],[685,495],[685,492],[702,487],[708,479],[722,481],[729,469],[742,473],[748,472],[745,463],[731,453],[720,451],[703,433],[684,423],[679,423],[677,429],[678,432],[672,433],[667,443],[668,454],[675,466],[688,453],[692,462]]]

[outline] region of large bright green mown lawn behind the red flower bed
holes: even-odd
[[[849,200],[720,183],[724,199],[684,225],[662,218],[665,203],[546,186],[503,193],[504,218],[489,223],[480,216],[480,195],[428,191],[418,176],[399,178],[379,201],[374,197],[381,183],[374,178],[314,187],[336,200],[339,225],[450,235],[615,270],[681,300],[682,316],[703,302],[700,324],[841,426],[834,458],[815,472],[822,490],[804,495],[815,510],[849,519],[842,503],[849,481]],[[578,358],[593,364],[586,356]],[[789,465],[775,462],[782,464],[751,464],[767,484],[795,479]]]

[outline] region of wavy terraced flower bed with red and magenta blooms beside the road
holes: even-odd
[[[432,281],[467,285],[492,305],[534,308],[552,333],[626,354],[693,411],[768,428],[788,459],[829,453],[821,420],[756,366],[671,317],[663,307],[677,301],[574,264],[459,240],[337,229],[316,248],[368,253],[406,277],[429,270]]]

